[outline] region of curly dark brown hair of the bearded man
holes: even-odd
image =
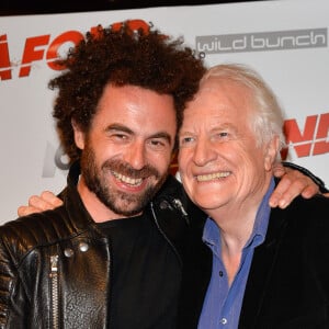
[[[132,30],[127,23],[121,29],[100,25],[97,34],[86,33],[67,57],[57,61],[66,69],[48,86],[58,89],[53,116],[70,162],[81,155],[75,144],[71,120],[87,133],[107,83],[132,84],[172,95],[179,128],[183,109],[205,72],[202,59],[183,45],[182,38],[172,39],[151,27]]]

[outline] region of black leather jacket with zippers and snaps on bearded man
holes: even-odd
[[[79,197],[76,170],[63,206],[0,227],[0,328],[111,327],[110,245]],[[169,177],[146,211],[183,268],[190,220],[182,193]]]

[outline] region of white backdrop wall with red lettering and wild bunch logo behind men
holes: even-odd
[[[329,186],[329,1],[286,0],[0,16],[0,224],[44,190],[66,184],[48,80],[54,60],[98,24],[131,20],[184,37],[207,66],[241,63],[269,82],[285,112],[283,159]]]

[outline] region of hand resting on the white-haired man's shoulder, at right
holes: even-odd
[[[269,204],[271,207],[285,208],[299,194],[309,198],[317,193],[319,193],[319,186],[310,178],[298,170],[290,170],[282,177]]]

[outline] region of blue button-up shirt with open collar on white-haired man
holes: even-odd
[[[238,328],[253,250],[265,239],[271,211],[269,198],[273,190],[274,180],[257,212],[252,234],[242,249],[240,265],[230,287],[222,260],[220,229],[212,218],[207,218],[203,241],[213,252],[213,272],[198,320],[198,329]]]

